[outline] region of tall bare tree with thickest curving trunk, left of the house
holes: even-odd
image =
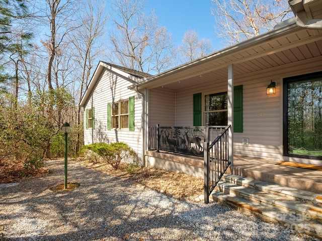
[[[42,0],[43,1],[43,0]],[[61,123],[61,99],[58,95],[63,92],[60,86],[62,85],[62,74],[68,69],[68,66],[62,66],[61,53],[65,52],[64,47],[68,46],[66,43],[67,36],[73,30],[77,28],[74,24],[77,16],[79,0],[45,0],[45,8],[39,10],[39,18],[44,21],[45,26],[49,28],[50,33],[46,35],[48,37],[42,40],[41,43],[47,50],[48,63],[46,68],[46,80],[48,90],[48,101],[46,105],[46,114],[48,123],[52,125],[52,135],[56,135],[60,129]],[[43,5],[41,5],[43,7]],[[44,12],[44,15],[42,14]],[[59,77],[59,79],[58,79]],[[53,82],[55,81],[55,89]],[[44,96],[47,95],[43,92]],[[54,100],[57,100],[55,103]],[[59,100],[59,101],[58,101]],[[63,100],[64,101],[64,100]],[[58,106],[58,111],[55,111],[54,106]],[[48,141],[46,156],[50,157],[51,143]]]

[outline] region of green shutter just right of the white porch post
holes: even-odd
[[[233,132],[243,132],[243,85],[233,87]]]

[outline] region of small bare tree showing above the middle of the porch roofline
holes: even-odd
[[[179,62],[185,63],[200,58],[212,52],[212,45],[209,39],[199,39],[196,31],[188,30],[179,46],[181,59]]]

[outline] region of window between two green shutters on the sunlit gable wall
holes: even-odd
[[[129,128],[129,101],[121,100],[112,103],[112,128]]]

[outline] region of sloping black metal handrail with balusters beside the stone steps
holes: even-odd
[[[225,129],[209,145],[204,143],[204,201],[209,203],[209,196],[231,164],[229,161],[229,128]]]

